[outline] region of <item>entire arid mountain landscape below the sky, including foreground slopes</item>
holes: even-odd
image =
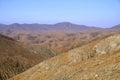
[[[0,24],[0,80],[119,80],[119,39],[120,25]]]

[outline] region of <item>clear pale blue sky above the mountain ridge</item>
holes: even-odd
[[[120,24],[120,0],[0,0],[0,23]]]

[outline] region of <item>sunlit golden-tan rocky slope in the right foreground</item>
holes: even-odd
[[[9,80],[119,80],[120,33],[41,62]]]

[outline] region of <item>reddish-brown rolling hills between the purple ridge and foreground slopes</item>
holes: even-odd
[[[32,34],[32,33],[20,33],[10,35],[14,39],[33,45],[39,45],[53,49],[58,53],[66,52],[70,49],[80,47],[89,42],[102,39],[106,36],[114,34],[112,32],[105,31],[91,31],[87,33],[61,33],[61,32],[50,32],[44,34]]]

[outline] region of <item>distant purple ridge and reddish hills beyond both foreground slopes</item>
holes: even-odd
[[[118,29],[102,29],[70,22],[57,24],[0,25],[0,32],[17,41],[47,47],[58,53],[80,47],[116,33]]]

